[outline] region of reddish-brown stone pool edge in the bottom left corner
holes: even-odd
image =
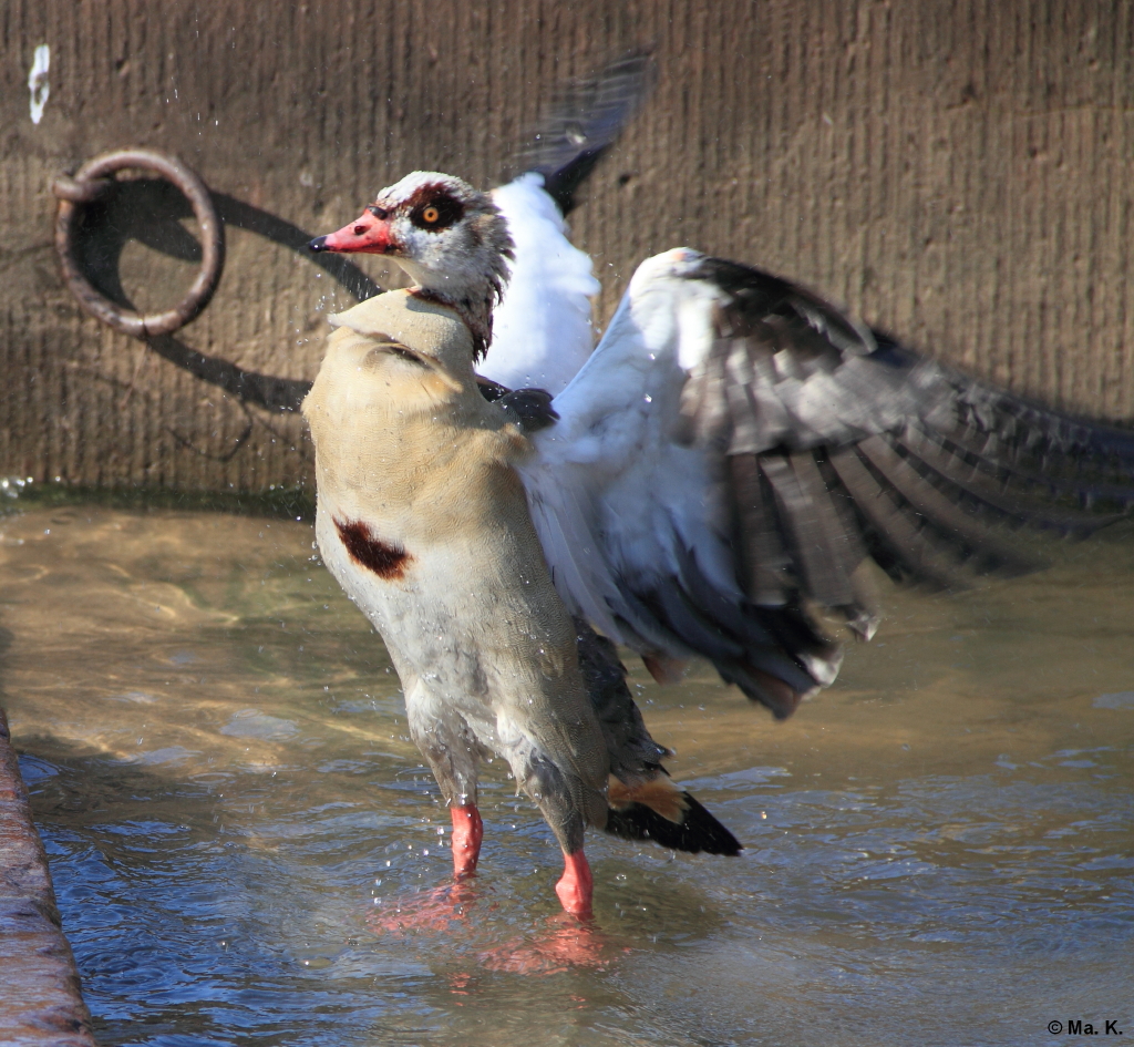
[[[94,1047],[91,1012],[0,708],[0,1044]]]

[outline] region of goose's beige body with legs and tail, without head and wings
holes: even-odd
[[[425,222],[431,208],[446,213],[430,201]],[[497,223],[485,242],[506,250],[485,216]],[[585,917],[586,826],[694,852],[739,845],[669,782],[612,645],[581,635],[557,596],[516,472],[530,441],[473,373],[483,298],[446,286],[459,304],[417,288],[333,318],[303,406],[316,538],[386,641],[411,735],[451,809],[457,878],[476,868],[477,763],[497,753],[562,847],[564,909]]]

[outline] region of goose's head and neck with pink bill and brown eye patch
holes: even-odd
[[[414,281],[415,294],[457,310],[473,333],[475,356],[488,348],[513,244],[491,197],[467,181],[414,171],[382,189],[355,221],[308,247],[390,257]]]

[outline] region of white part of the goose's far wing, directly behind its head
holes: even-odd
[[[492,193],[508,221],[516,257],[492,316],[492,345],[477,368],[509,389],[562,391],[591,355],[591,259],[567,239],[543,176],[522,175]]]

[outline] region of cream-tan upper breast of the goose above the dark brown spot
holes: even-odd
[[[456,313],[393,292],[335,322],[303,407],[321,501],[434,535],[526,523],[511,463],[527,440],[480,395]]]

